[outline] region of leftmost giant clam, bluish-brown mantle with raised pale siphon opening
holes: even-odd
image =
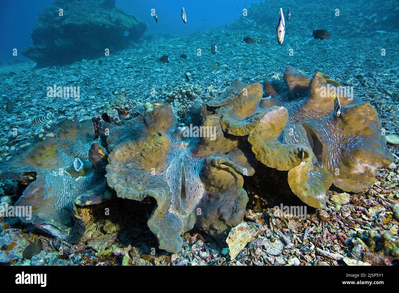
[[[91,120],[65,118],[45,128],[32,140],[21,142],[0,161],[2,179],[36,178],[28,185],[16,206],[32,206],[32,217],[20,214],[22,222],[32,223],[55,236],[77,242],[85,224],[76,205],[101,203],[104,193],[102,170],[105,149],[93,142]]]

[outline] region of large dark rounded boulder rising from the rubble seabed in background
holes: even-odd
[[[93,59],[104,55],[105,49],[126,47],[142,36],[147,24],[114,4],[115,0],[55,0],[40,14],[31,33],[33,45],[22,55],[42,68]]]

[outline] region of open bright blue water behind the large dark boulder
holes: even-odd
[[[81,0],[84,1],[84,0]],[[205,0],[117,0],[116,6],[148,24],[147,33],[169,33],[189,35],[198,30],[207,30],[230,24],[242,14],[242,9],[259,1],[211,1]],[[32,45],[29,32],[32,31],[38,16],[53,0],[13,0],[3,1],[0,5],[0,61],[13,59],[13,48],[25,48]],[[179,17],[182,7],[188,14],[188,25],[183,26]],[[156,9],[158,24],[150,15]],[[176,17],[176,15],[178,17]],[[19,55],[18,58],[27,58]]]

